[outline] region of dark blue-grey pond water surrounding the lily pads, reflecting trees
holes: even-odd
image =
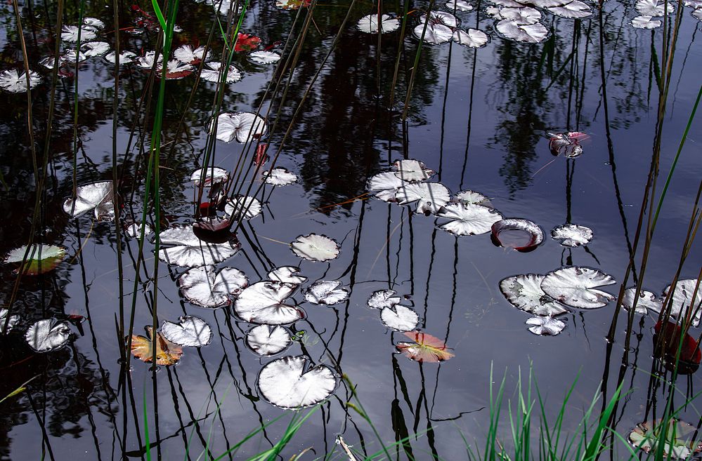
[[[308,279],[302,288],[318,280],[340,281],[349,292],[348,299],[327,306],[308,302],[297,288],[285,302],[304,309],[304,319],[282,322],[288,328],[283,336],[294,340],[284,352],[263,357],[247,347],[245,338],[254,324],[233,315],[232,302],[208,309],[183,296],[178,277],[186,268],[155,260],[154,234],[145,239],[141,259],[138,239],[124,230],[117,239],[113,220],[96,220],[93,211],[70,218],[64,211],[74,185],[112,181],[116,164],[118,227],[141,222],[160,80],[150,79],[148,69],[123,65],[115,112],[114,65],[95,56],[77,67],[77,77],[74,64],[63,65],[52,91],[52,71],[40,61],[53,55],[59,5],[31,0],[18,5],[28,66],[41,78],[30,92],[30,130],[27,93],[0,92],[0,250],[22,247],[30,235],[34,243],[67,250],[55,269],[22,276],[19,282],[13,272],[18,265],[0,267],[3,306],[12,302],[11,314],[19,316],[2,337],[0,398],[30,381],[25,392],[0,403],[3,459],[146,459],[145,413],[155,447],[152,456],[195,460],[207,446],[216,457],[282,415],[229,456],[246,459],[280,439],[292,415],[269,403],[270,394],[257,382],[261,369],[283,356],[305,356],[308,363],[328,366],[325,370],[332,370],[338,381],[285,448],[284,459],[307,448],[311,450],[300,459],[323,457],[332,450],[342,459],[335,443],[340,434],[361,453],[381,450],[368,422],[345,405],[351,388],[339,379],[342,373],[356,386],[385,443],[409,436],[403,448],[392,448],[398,459],[465,459],[461,434],[482,446],[490,417],[491,370],[493,385],[505,375],[512,398],[519,373],[526,379],[531,367],[553,415],[579,377],[566,416],[569,430],[576,429],[600,386],[611,396],[618,380],[632,389],[617,409],[620,434],[656,413],[656,398],[663,396],[651,385],[651,373],[661,369],[654,356],[657,314],[635,316],[628,350],[623,310],[616,338],[606,341],[616,302],[599,309],[568,307],[557,317],[565,323],[559,335],[535,335],[525,324],[530,315],[507,302],[500,281],[565,266],[591,267],[616,279],[603,289],[617,295],[634,245],[658,123],[663,123],[663,135],[656,199],[699,90],[700,22],[691,7],[682,7],[661,118],[656,79],[663,27],[632,27],[639,13],[629,1],[609,0],[602,10],[587,5],[592,14],[583,19],[540,9],[548,36],[540,44],[526,44],[498,33],[498,19],[491,15],[500,13],[489,2],[450,11],[443,2],[319,1],[281,9],[273,0],[252,0],[240,31],[260,37],[260,43],[248,43],[252,49],[281,53],[282,60],[264,65],[252,62],[247,50],[233,53],[232,64],[243,78],[226,85],[221,111],[260,108],[268,128],[261,142],[272,158],[260,171],[255,165],[246,169],[255,145],[208,138],[217,83],[200,81],[193,89],[195,74],[190,70],[183,79],[168,80],[158,168],[160,222],[155,222],[152,208],[148,222],[161,230],[191,224],[197,208],[193,171],[214,152],[214,165],[234,176],[242,171],[238,161],[246,154],[246,174],[238,182],[232,179],[230,192],[256,193],[262,211],[242,221],[240,249],[217,260],[217,266],[240,269],[249,286],[269,279],[274,267],[297,266]],[[155,49],[157,22],[148,16],[150,4],[115,5],[121,49],[139,56]],[[81,14],[103,20],[96,39],[114,49],[112,4],[69,2],[63,8],[65,25],[78,24]],[[173,48],[207,44],[214,31],[212,49],[221,54],[219,25],[226,32],[226,15],[190,0],[178,8],[182,32],[174,34]],[[409,13],[403,39],[401,29],[379,35],[356,27],[365,15],[382,11],[401,17],[405,8]],[[415,60],[420,40],[412,29],[424,24],[421,15],[427,8],[455,13],[464,27],[483,30],[490,41],[481,48],[455,41],[425,43]],[[0,18],[0,72],[21,72],[24,58],[13,4],[0,8]],[[429,32],[437,21],[427,23]],[[674,21],[672,15],[667,32]],[[282,73],[290,56],[296,58],[294,72]],[[585,133],[576,141],[583,153],[577,158],[552,155],[554,135],[549,133],[568,132]],[[680,264],[702,175],[701,143],[702,128],[696,121],[650,246],[644,287],[657,295]],[[34,169],[41,173],[45,153],[47,174],[40,185]],[[400,205],[368,194],[368,180],[391,171],[401,159],[422,161],[436,172],[427,182],[441,182],[451,194],[480,192],[504,218],[534,222],[544,232],[542,243],[530,251],[514,250],[531,239],[520,229],[507,229],[502,247],[495,246],[489,232],[455,236],[438,227],[445,220],[416,213],[416,202]],[[272,167],[287,168],[297,180],[280,187],[264,185],[261,171]],[[441,197],[432,194],[429,202],[428,208],[438,206]],[[645,219],[647,215],[644,224]],[[592,229],[592,241],[567,248],[552,239],[551,229],[571,222]],[[308,234],[334,239],[338,257],[323,262],[300,258],[290,243]],[[639,248],[637,261],[640,254]],[[701,265],[702,252],[694,243],[680,279],[696,279]],[[630,277],[627,286],[633,283]],[[408,329],[438,338],[453,357],[420,363],[398,353],[398,342],[410,338],[388,328],[379,310],[368,305],[372,293],[388,289],[416,312],[417,326]],[[129,363],[123,366],[119,325],[129,329],[132,302],[136,335],[152,325],[156,305],[159,326],[162,321],[177,323],[179,316],[197,316],[212,328],[212,341],[200,348],[183,347],[177,364],[159,366],[155,374],[150,364],[128,353]],[[70,337],[56,350],[33,352],[25,331],[51,318],[69,321]],[[699,331],[692,328],[691,335],[696,338]],[[623,357],[628,362],[620,366]],[[280,378],[276,375],[272,378]],[[677,385],[683,394],[701,390],[698,373]],[[694,410],[686,416],[693,424],[698,420]]]

